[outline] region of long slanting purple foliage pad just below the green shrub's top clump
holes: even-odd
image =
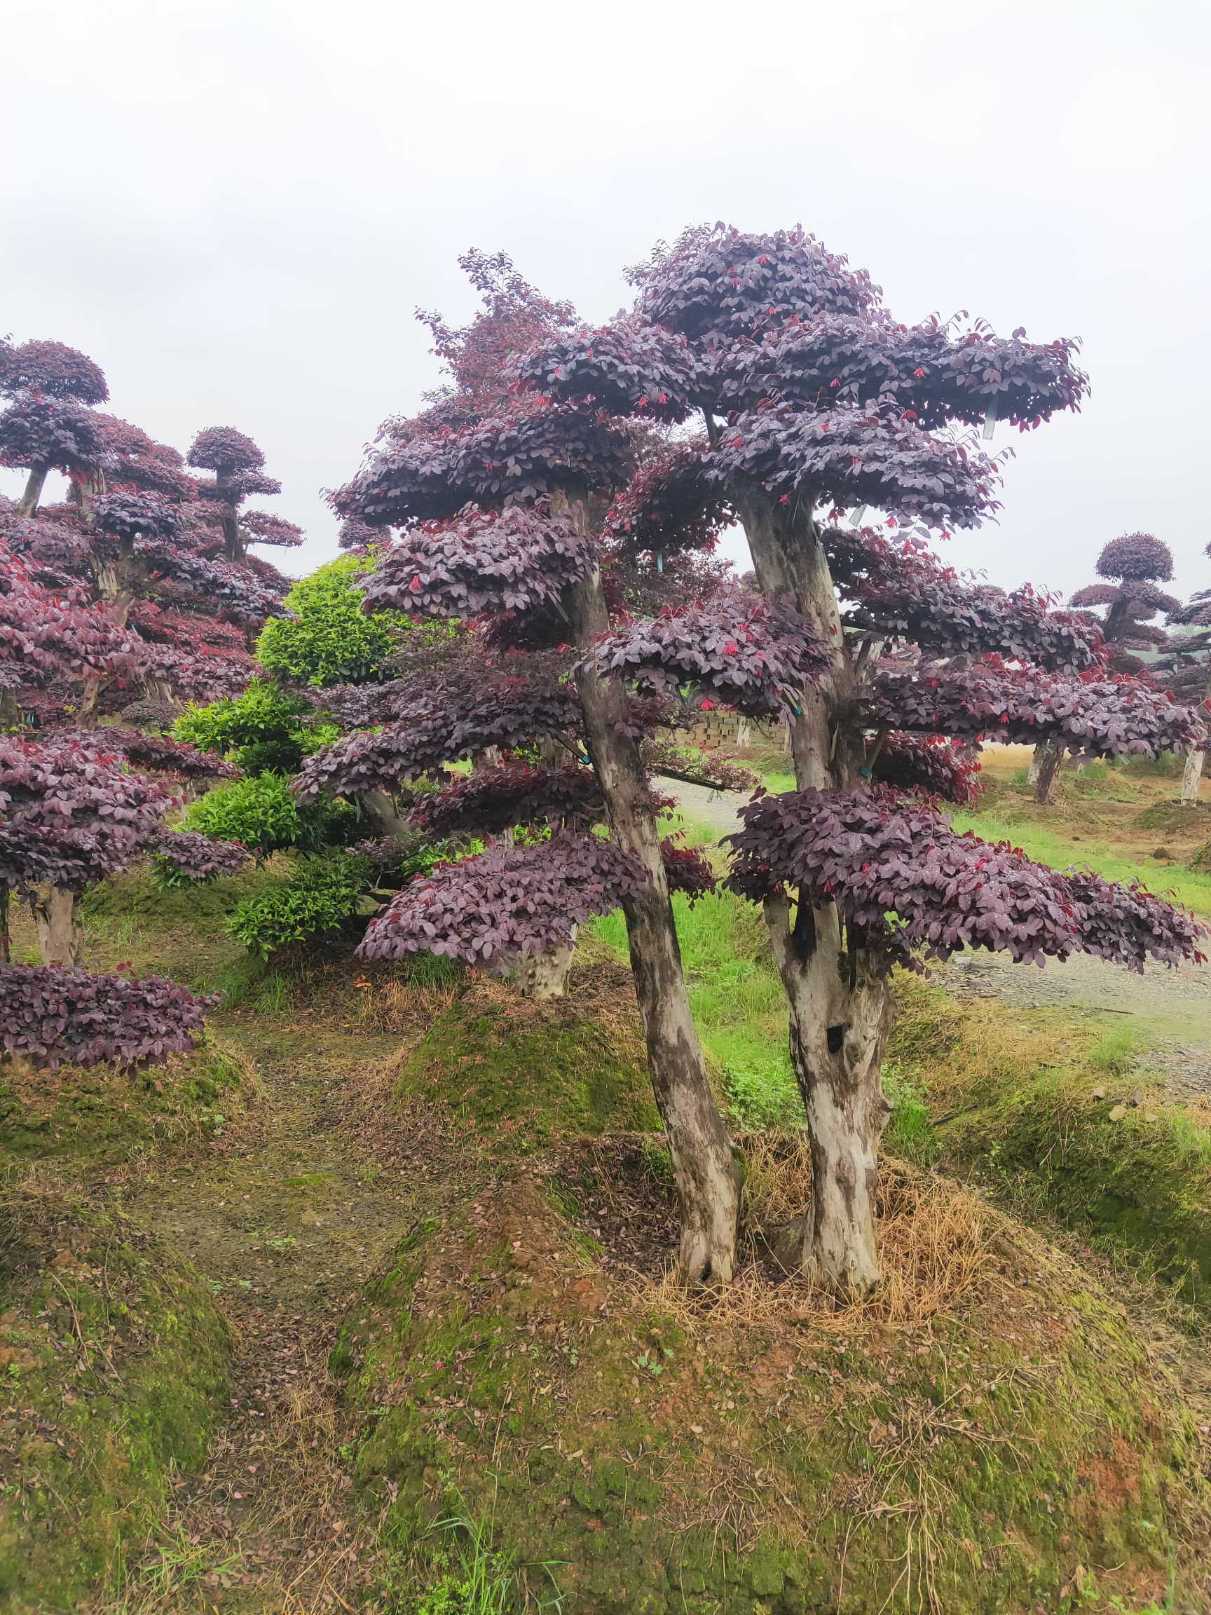
[[[484,680],[478,699],[454,707],[441,691],[421,696],[379,730],[342,735],[305,757],[295,782],[299,801],[320,791],[352,796],[396,791],[405,780],[470,757],[488,746],[520,746],[536,735],[578,727],[573,691],[565,685]]]

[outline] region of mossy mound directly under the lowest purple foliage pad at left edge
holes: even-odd
[[[213,1037],[132,1074],[32,1071],[0,1058],[0,1156],[119,1166],[152,1148],[218,1137],[250,1085],[247,1061]]]

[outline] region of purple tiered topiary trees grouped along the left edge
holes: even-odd
[[[187,1048],[203,1003],[86,972],[81,898],[150,851],[197,879],[247,859],[165,827],[174,788],[234,770],[157,730],[182,701],[247,683],[250,638],[287,580],[245,546],[302,535],[244,509],[279,491],[249,438],[199,433],[187,460],[212,475],[192,476],[97,407],[105,376],[76,349],[0,344],[0,464],[27,472],[0,505],[0,1050],[140,1064]],[[69,497],[47,507],[50,472]],[[102,722],[119,707],[128,727]],[[10,959],[13,896],[32,909],[40,966]]]

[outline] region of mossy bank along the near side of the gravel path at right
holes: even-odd
[[[917,982],[898,996],[898,1153],[1053,1216],[1211,1310],[1211,1110],[1142,1087],[1129,1042],[1098,1043],[1071,1017],[956,1003]]]

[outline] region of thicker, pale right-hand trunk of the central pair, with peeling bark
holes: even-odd
[[[836,593],[809,507],[751,504],[740,510],[762,594],[793,596],[835,648],[833,672],[807,690],[790,720],[799,790],[853,785],[865,764],[862,730],[849,715],[853,672]],[[780,1253],[844,1295],[878,1282],[875,1197],[878,1145],[891,1106],[880,1064],[891,1027],[886,977],[872,969],[861,937],[846,935],[836,908],[765,904],[773,958],[790,1003],[791,1066],[807,1113],[812,1198],[783,1231]],[[785,1256],[783,1256],[785,1260]]]

